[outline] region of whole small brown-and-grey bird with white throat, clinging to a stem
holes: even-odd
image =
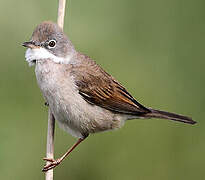
[[[59,126],[78,138],[61,158],[44,158],[54,168],[90,133],[118,129],[129,119],[160,118],[195,124],[190,117],[148,108],[90,57],[74,48],[63,30],[42,22],[34,30],[25,58],[35,65],[37,83]]]

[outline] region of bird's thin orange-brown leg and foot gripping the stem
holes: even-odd
[[[87,137],[87,136],[86,136]],[[54,167],[56,167],[57,165],[59,165],[86,137],[84,138],[79,138],[78,141],[70,148],[68,149],[68,151],[61,156],[58,159],[51,159],[51,158],[43,158],[46,161],[49,161],[50,163],[45,165],[42,169],[43,172],[46,172],[50,169],[53,169]]]

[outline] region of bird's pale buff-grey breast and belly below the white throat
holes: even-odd
[[[38,85],[61,128],[76,137],[116,129],[123,125],[121,116],[87,103],[78,93],[72,67],[52,61],[36,63]]]

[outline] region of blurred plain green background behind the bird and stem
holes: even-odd
[[[0,1],[0,179],[44,179],[47,107],[25,48],[35,26],[56,20],[57,1]],[[55,179],[205,179],[205,1],[69,0],[65,32],[144,105],[198,124],[133,120],[91,135]],[[56,128],[55,157],[76,141]]]

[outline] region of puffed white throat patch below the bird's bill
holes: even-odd
[[[52,53],[50,53],[49,51],[47,51],[46,49],[40,47],[35,49],[28,48],[25,53],[25,58],[29,66],[32,66],[35,65],[35,61],[44,60],[44,59],[50,59],[55,63],[59,63],[59,64],[69,64],[72,56],[67,56],[66,58],[57,57]]]

